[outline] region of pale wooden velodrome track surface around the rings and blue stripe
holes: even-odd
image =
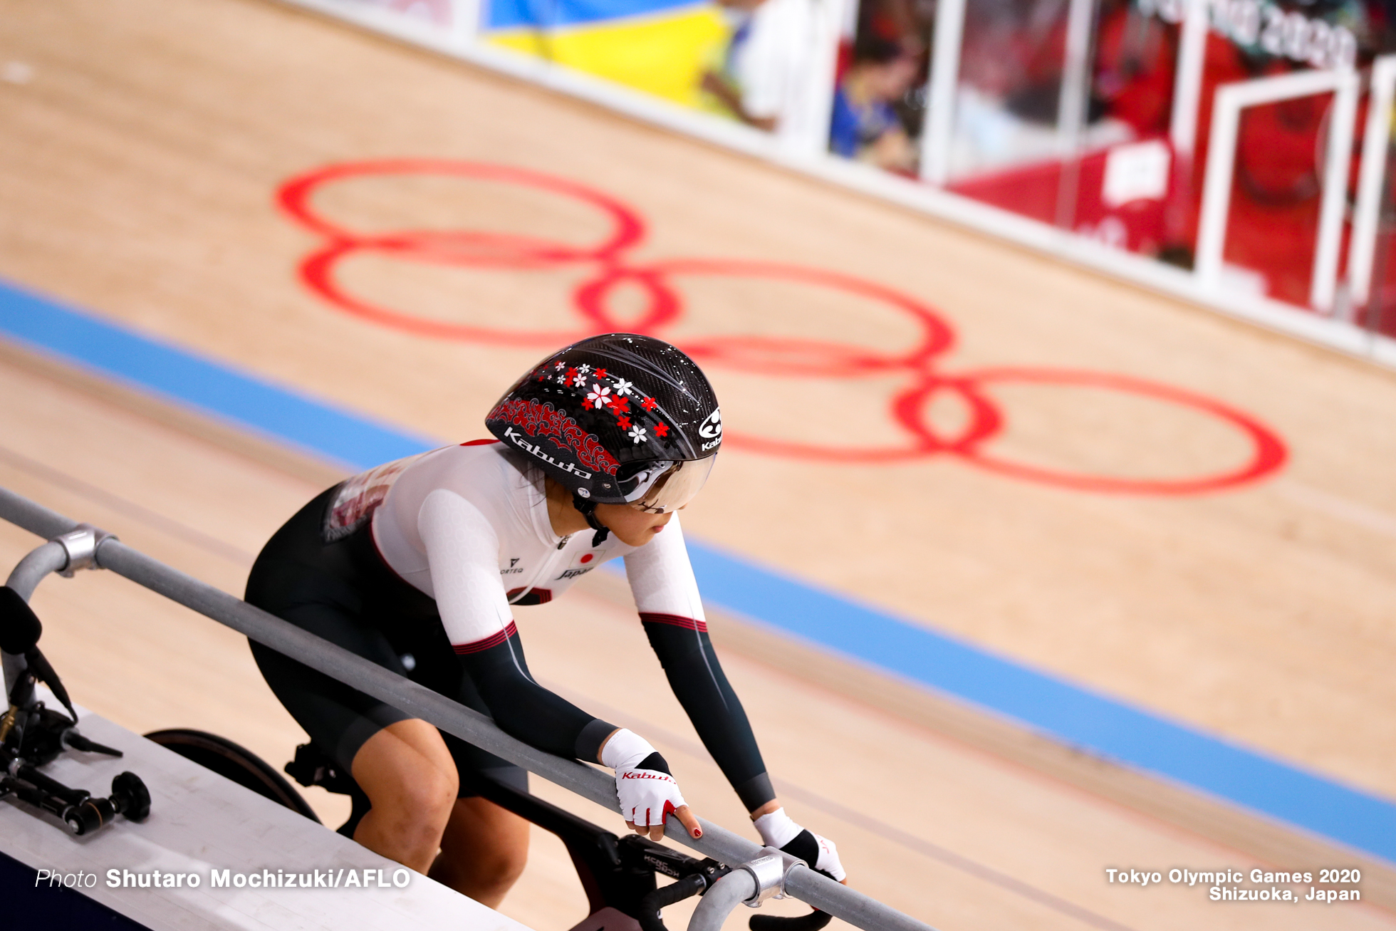
[[[1189,479],[1249,454],[1196,409],[1023,370],[1124,373],[1247,412],[1289,461],[1203,494],[1067,487],[944,452],[864,462],[732,444],[684,521],[727,550],[1396,797],[1390,373],[258,0],[0,0],[4,60],[34,73],[0,84],[0,276],[424,435],[479,435],[503,387],[588,325],[571,290],[593,269],[537,250],[525,261],[519,240],[438,239],[430,262],[408,254],[420,239],[345,255],[346,290],[412,320],[384,325],[297,278],[322,241],[278,207],[288,179],[371,159],[529,169],[642,218],[644,241],[613,254],[631,268],[780,262],[913,295],[956,332],[937,359],[945,373],[1018,370],[991,384],[1004,427],[984,451],[1002,461]],[[440,166],[341,180],[313,202],[356,230],[606,234],[593,205]],[[752,336],[786,349],[853,341],[864,356],[920,338],[866,290],[734,268],[669,267],[685,306],[656,332],[736,338],[729,350]],[[642,320],[639,285],[653,278],[641,278],[609,295],[604,320]],[[511,336],[450,329],[466,324]],[[557,338],[519,342],[525,329]],[[888,413],[905,373],[793,375],[775,355],[712,357],[733,434],[843,451],[907,442]],[[959,435],[969,396],[935,394],[927,420]],[[0,484],[230,592],[261,542],[336,477],[14,349],[0,398]],[[32,543],[0,528],[0,563]],[[694,751],[624,597],[599,578],[519,611],[535,669],[646,734],[677,761],[690,801],[737,828],[743,812]],[[101,575],[47,582],[36,606],[75,698],[113,720],[214,730],[276,762],[299,741],[230,632]],[[713,624],[792,814],[839,842],[859,888],[940,928],[1396,924],[1379,864],[1367,864],[1368,902],[1322,913],[1110,886],[1106,867],[1361,858],[738,621]],[[342,817],[339,800],[311,794],[327,821]],[[577,920],[581,902],[560,846],[539,836],[503,910],[546,930]]]

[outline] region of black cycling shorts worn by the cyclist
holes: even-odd
[[[336,489],[303,507],[267,542],[247,578],[247,602],[399,676],[489,715],[451,649],[436,600],[392,572],[373,543],[370,522],[325,543],[325,508]],[[355,754],[388,724],[412,715],[253,642],[272,692],[310,740],[352,772]],[[410,666],[410,669],[408,669]],[[528,790],[528,770],[441,733],[461,775],[459,797],[489,776]]]

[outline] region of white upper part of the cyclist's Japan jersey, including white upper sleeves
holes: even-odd
[[[511,604],[550,602],[602,563],[623,557],[646,621],[706,630],[678,515],[642,547],[586,529],[553,532],[539,468],[497,440],[444,447],[346,480],[331,504],[329,540],[373,522],[384,563],[436,599],[458,653],[512,632]]]

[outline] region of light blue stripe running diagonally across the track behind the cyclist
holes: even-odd
[[[369,468],[440,442],[0,285],[0,334],[300,449]],[[1396,861],[1396,804],[1097,695],[745,557],[688,542],[704,596],[1089,752]],[[1336,864],[1343,865],[1343,864]]]

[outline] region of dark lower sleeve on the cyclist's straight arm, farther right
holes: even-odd
[[[775,798],[751,722],[722,671],[706,627],[670,614],[646,613],[641,620],[674,697],[741,804],[755,811]]]

